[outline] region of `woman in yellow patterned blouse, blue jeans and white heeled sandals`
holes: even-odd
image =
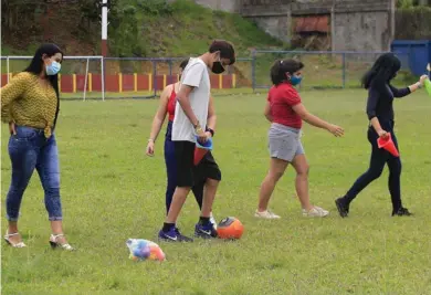
[[[29,67],[1,88],[1,119],[9,124],[9,156],[12,179],[6,210],[9,221],[4,240],[23,247],[18,217],[24,190],[36,169],[45,193],[51,221],[52,247],[73,250],[63,234],[60,200],[59,150],[54,128],[59,115],[59,72],[63,53],[55,44],[43,44]]]

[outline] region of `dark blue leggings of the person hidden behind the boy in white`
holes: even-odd
[[[166,172],[168,175],[168,185],[166,186],[166,212],[169,212],[170,203],[172,202],[172,197],[175,189],[177,188],[177,159],[175,155],[175,144],[171,139],[172,136],[172,122],[168,123],[168,128],[166,129],[165,136],[165,164]],[[199,180],[195,187],[191,188],[193,191],[196,201],[198,202],[199,208],[202,208],[203,200],[203,187],[206,179]]]

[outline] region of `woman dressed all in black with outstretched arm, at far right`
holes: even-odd
[[[406,88],[396,88],[390,81],[397,75],[401,63],[392,53],[380,55],[372,67],[364,75],[362,86],[368,89],[367,115],[370,120],[368,126],[368,141],[371,144],[371,160],[368,170],[361,175],[347,191],[338,198],[335,203],[341,218],[349,213],[349,204],[355,197],[370,182],[380,177],[385,164],[389,168],[389,192],[392,201],[392,215],[411,215],[408,209],[402,207],[400,176],[401,160],[389,151],[380,149],[377,145],[379,137],[387,138],[389,134],[398,149],[397,137],[393,133],[393,98],[403,97],[417,91],[423,85],[427,75],[420,77],[419,82]]]

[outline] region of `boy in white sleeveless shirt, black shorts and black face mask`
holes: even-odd
[[[206,143],[213,136],[213,130],[206,131],[211,91],[209,71],[214,74],[224,72],[227,65],[235,62],[233,46],[227,41],[214,41],[208,52],[191,59],[181,75],[181,87],[177,94],[178,104],[172,125],[172,141],[177,158],[177,188],[172,197],[168,215],[159,239],[171,242],[191,242],[176,226],[177,218],[196,179],[206,177],[202,210],[195,226],[195,236],[217,238],[217,231],[210,222],[212,203],[221,180],[221,171],[210,154],[193,165],[196,141]],[[197,139],[198,138],[198,139]]]

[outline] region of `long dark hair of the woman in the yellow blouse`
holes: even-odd
[[[42,56],[43,54],[46,54],[48,57],[51,57],[55,55],[56,53],[61,53],[63,57],[63,52],[61,49],[52,43],[46,43],[42,44],[36,52],[34,53],[33,60],[31,60],[31,63],[29,66],[24,70],[25,72],[40,75],[41,72],[43,71],[43,60]],[[59,89],[59,74],[56,75],[46,75],[46,78],[50,81],[51,86],[54,88],[55,94],[56,94],[56,110],[55,110],[55,118],[54,118],[54,127],[56,124],[56,118],[59,116],[59,110],[60,110],[60,89]]]

